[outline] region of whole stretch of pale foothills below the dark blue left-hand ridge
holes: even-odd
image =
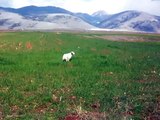
[[[25,18],[19,14],[0,11],[0,29],[91,29],[92,25],[69,14],[43,14],[39,19]]]

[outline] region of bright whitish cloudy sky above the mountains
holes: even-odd
[[[160,0],[0,0],[1,7],[20,8],[29,5],[56,6],[88,14],[99,10],[108,14],[138,10],[160,16]]]

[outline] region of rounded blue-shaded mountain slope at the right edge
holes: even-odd
[[[160,32],[160,17],[138,11],[125,11],[110,16],[99,24],[101,28],[130,31]]]

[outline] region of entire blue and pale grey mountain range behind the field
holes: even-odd
[[[92,15],[73,13],[59,7],[26,6],[18,9],[0,7],[0,30],[124,30],[160,33],[160,16],[140,11]]]

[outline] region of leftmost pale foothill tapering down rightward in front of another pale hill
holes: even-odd
[[[16,13],[0,11],[0,29],[17,30],[17,29],[51,29],[53,24],[47,22],[37,22],[27,20]]]

